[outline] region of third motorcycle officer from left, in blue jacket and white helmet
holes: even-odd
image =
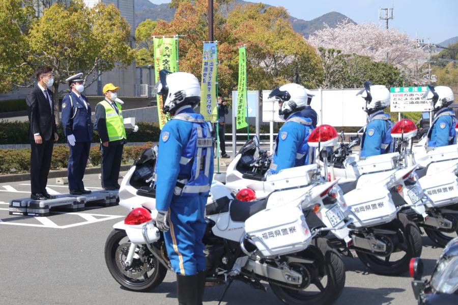
[[[368,115],[363,135],[361,137],[360,158],[378,156],[393,152],[390,116],[383,109],[390,105],[390,92],[383,85],[372,85],[364,82],[364,89],[357,94],[366,101],[364,111]]]

